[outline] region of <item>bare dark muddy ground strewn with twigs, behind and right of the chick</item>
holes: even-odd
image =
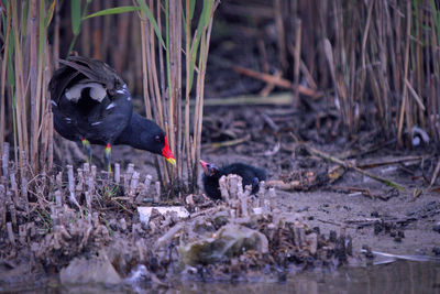
[[[271,106],[207,107],[201,157],[217,165],[248,163],[265,168],[268,181],[289,182],[308,171],[324,174],[337,166],[308,154],[300,143],[295,142],[295,137],[334,156],[353,154],[349,160],[359,165],[420,156],[419,160],[366,168],[374,175],[398,183],[405,190],[351,170],[331,184],[328,179],[316,179],[304,183],[302,187],[297,187],[299,190],[277,189],[277,203],[283,211],[300,211],[308,226],[318,226],[322,232],[342,230],[351,235],[355,251],[367,246],[394,254],[435,255],[436,248],[440,247],[440,232],[435,230],[440,221],[440,193],[436,190],[439,181],[432,189],[428,188],[437,163],[435,148],[424,145],[411,151],[399,150],[395,142],[384,142],[378,132],[371,131],[361,131],[358,138],[349,140],[339,137],[343,130],[341,127],[334,129],[336,118],[327,126],[317,127],[314,113],[285,109]],[[232,146],[212,148],[215,143],[242,138],[244,142]],[[136,162],[140,156],[144,157],[145,164],[139,163],[136,167],[155,173],[150,156],[127,148],[118,149],[127,162],[133,162],[130,160],[133,152]],[[356,192],[356,188],[369,189],[371,195]]]

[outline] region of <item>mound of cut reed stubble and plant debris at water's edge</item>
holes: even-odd
[[[324,236],[308,228],[301,214],[279,211],[274,188],[266,188],[264,182],[255,196],[250,186],[242,188],[241,177],[223,176],[222,202],[188,195],[189,217],[173,209],[161,214],[153,207],[150,218],[141,222],[134,203],[139,195],[157,198],[156,190],[131,185],[133,181],[141,185],[139,174],[133,178],[133,166],[117,178],[106,173],[100,177],[95,171],[85,164],[66,179],[63,174],[50,179],[61,185],[44,187],[48,196],[40,199],[41,210],[33,209],[30,217],[15,211],[18,236],[12,206],[4,206],[9,230],[0,233],[0,252],[7,264],[13,268],[34,257],[31,272],[61,272],[66,283],[108,283],[108,276],[120,281],[144,265],[150,281],[166,283],[176,275],[249,281],[280,272],[336,269],[353,258],[350,236],[334,231]],[[99,269],[111,275],[94,273]]]

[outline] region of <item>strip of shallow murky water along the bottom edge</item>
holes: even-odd
[[[440,293],[440,263],[396,261],[366,268],[344,268],[334,272],[306,272],[292,275],[286,282],[191,283],[173,287],[133,285],[62,286],[56,282],[43,287],[0,288],[1,293]]]

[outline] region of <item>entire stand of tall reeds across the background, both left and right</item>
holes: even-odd
[[[58,58],[76,51],[108,62],[134,95],[142,94],[145,115],[166,130],[177,157],[177,168],[156,160],[161,182],[175,192],[194,190],[218,4],[2,1],[0,154],[9,142],[18,178],[24,171],[53,168],[47,84]],[[361,128],[376,129],[383,138],[411,146],[411,133],[418,130],[439,142],[438,1],[231,1],[221,11],[243,22],[252,19],[253,25],[274,24],[274,44],[260,39],[257,45],[262,56],[275,46],[274,63],[234,68],[266,80],[266,95],[275,87],[288,88],[298,99],[322,99],[324,94],[349,137]],[[273,66],[279,69],[276,75],[268,70]]]

